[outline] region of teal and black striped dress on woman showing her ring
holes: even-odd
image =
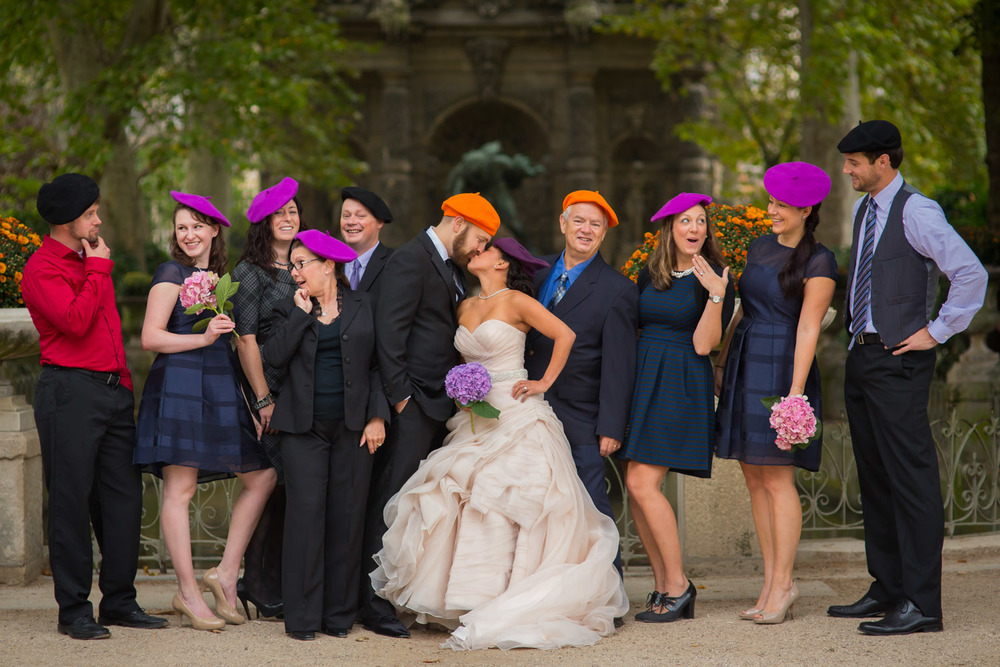
[[[721,269],[717,269],[722,273]],[[712,474],[715,397],[712,364],[694,350],[694,330],[707,292],[694,274],[656,289],[639,276],[639,344],[625,443],[617,456],[695,477]],[[732,285],[722,321],[733,312]]]

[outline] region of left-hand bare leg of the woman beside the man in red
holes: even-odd
[[[186,466],[163,468],[163,501],[160,506],[160,527],[167,553],[177,574],[177,592],[196,616],[215,618],[205,604],[194,577],[191,562],[191,525],[188,508],[198,486],[198,469]]]

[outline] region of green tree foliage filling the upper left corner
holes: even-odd
[[[348,47],[314,2],[0,0],[0,34],[0,207],[84,171],[141,255],[143,194],[166,199],[198,151],[318,186],[352,166]]]

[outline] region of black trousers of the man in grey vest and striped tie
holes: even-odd
[[[927,416],[934,350],[893,356],[855,345],[844,395],[861,484],[869,590],[876,600],[907,598],[941,617],[944,506]]]

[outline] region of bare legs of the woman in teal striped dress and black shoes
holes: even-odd
[[[661,561],[664,574],[662,581],[657,581],[657,590],[670,597],[678,597],[687,590],[688,580],[684,575],[677,517],[670,502],[660,491],[660,484],[666,474],[667,468],[663,466],[632,461],[625,480],[629,498],[640,508],[649,533],[650,540],[644,539],[643,544],[647,545],[647,551],[649,544],[655,544]]]

